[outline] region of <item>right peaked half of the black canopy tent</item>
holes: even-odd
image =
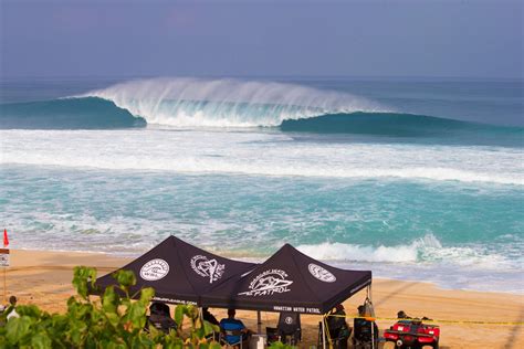
[[[202,306],[303,314],[328,313],[371,284],[371,272],[345,271],[285,244],[249,274],[206,293]]]

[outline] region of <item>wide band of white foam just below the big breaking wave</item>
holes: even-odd
[[[512,148],[294,142],[279,134],[154,129],[1,130],[0,137],[1,163],[524,184],[523,152]]]

